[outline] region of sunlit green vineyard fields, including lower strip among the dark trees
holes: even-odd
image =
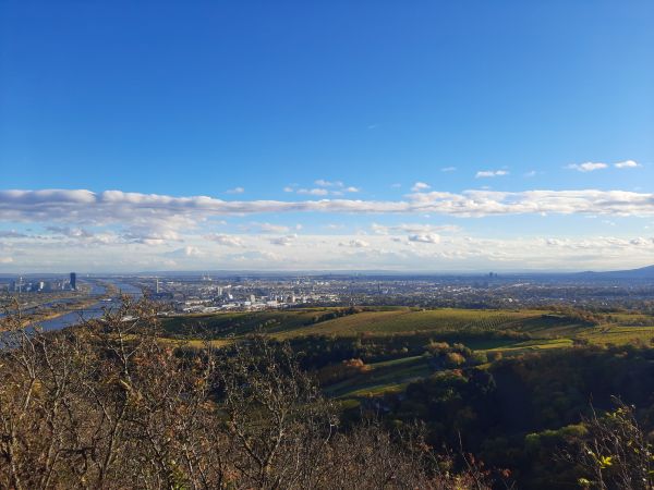
[[[336,318],[335,318],[336,317]],[[327,384],[324,391],[340,400],[356,400],[401,391],[416,379],[434,372],[421,354],[429,341],[460,342],[474,352],[505,357],[553,348],[569,348],[574,343],[652,343],[654,318],[641,314],[610,314],[591,324],[560,313],[546,310],[429,309],[408,307],[300,308],[258,313],[190,315],[164,320],[169,336],[199,346],[209,339],[221,346],[262,333],[275,340],[305,341],[364,339],[372,343],[410,346],[407,354],[390,360],[366,364],[366,371]]]

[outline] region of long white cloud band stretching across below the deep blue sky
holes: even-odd
[[[0,191],[0,221],[118,225],[133,240],[179,240],[211,217],[282,212],[654,216],[654,194],[628,191],[421,192],[405,200],[234,200],[107,191]],[[280,230],[274,230],[280,232]],[[282,231],[283,232],[283,231]]]

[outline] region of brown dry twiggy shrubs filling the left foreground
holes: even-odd
[[[343,432],[288,347],[161,342],[142,301],[56,333],[0,326],[2,489],[467,489],[420,437]]]

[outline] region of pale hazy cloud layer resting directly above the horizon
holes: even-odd
[[[383,225],[378,225],[383,226]],[[431,228],[429,228],[431,226]],[[441,225],[447,226],[447,225]],[[414,271],[480,271],[547,269],[620,269],[652,264],[650,231],[630,236],[548,236],[487,238],[462,231],[438,232],[438,225],[401,223],[373,229],[365,236],[347,231],[316,235],[249,235],[181,233],[183,247],[109,242],[87,246],[76,238],[47,236],[0,241],[7,272],[135,271],[211,269],[395,269]],[[545,228],[544,228],[545,229]],[[205,229],[203,228],[203,231]],[[608,228],[603,228],[607,231]],[[360,229],[360,231],[362,231]],[[389,234],[383,234],[388,231]],[[452,230],[455,231],[455,230]],[[618,228],[611,229],[620,233]],[[338,233],[338,234],[337,234]],[[397,234],[395,234],[397,233]],[[246,240],[246,247],[243,244]],[[437,245],[435,245],[437,243]],[[170,252],[172,250],[172,252]]]

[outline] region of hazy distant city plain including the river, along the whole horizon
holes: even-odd
[[[160,303],[164,315],[255,311],[310,306],[423,308],[647,308],[654,268],[570,274],[392,274],[174,272],[0,277],[0,292],[38,313],[46,328],[93,318],[121,294]],[[80,317],[80,315],[82,317]],[[44,316],[47,317],[44,321]]]

